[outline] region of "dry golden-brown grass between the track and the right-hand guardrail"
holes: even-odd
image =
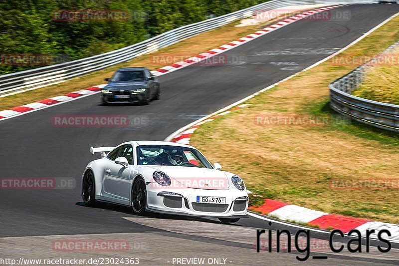
[[[399,17],[345,53],[377,54],[398,38]],[[254,122],[257,115],[334,115],[328,107],[328,83],[351,68],[325,62],[255,96],[246,102],[248,107],[205,123],[191,144],[224,170],[241,175],[250,190],[266,198],[399,223],[398,190],[340,190],[329,185],[332,180],[399,182],[398,136],[335,120],[323,127]]]

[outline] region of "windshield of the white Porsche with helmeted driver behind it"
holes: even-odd
[[[137,164],[188,166],[212,169],[212,166],[198,150],[172,145],[138,146]]]

